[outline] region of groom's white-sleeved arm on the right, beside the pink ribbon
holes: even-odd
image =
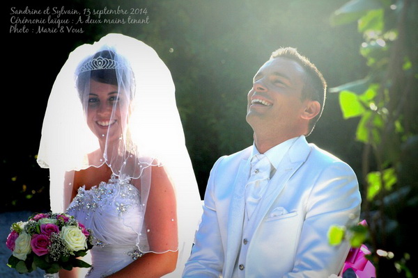
[[[346,240],[338,246],[330,245],[327,231],[332,225],[350,227],[358,223],[362,200],[355,173],[346,163],[335,162],[314,183],[295,265],[284,278],[338,275],[350,250]]]

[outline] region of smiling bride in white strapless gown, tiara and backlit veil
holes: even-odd
[[[201,204],[174,91],[155,51],[120,34],[77,47],[56,78],[38,163],[52,211],[96,238],[86,277],[181,276]]]

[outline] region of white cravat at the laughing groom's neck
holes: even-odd
[[[271,163],[264,154],[251,158],[251,173],[245,186],[245,211],[247,219],[251,218],[254,209],[265,193],[270,181]]]

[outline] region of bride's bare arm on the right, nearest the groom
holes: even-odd
[[[153,167],[145,223],[150,250],[177,249],[176,195],[164,167]],[[174,247],[174,248],[173,248]],[[147,253],[109,277],[162,277],[176,269],[178,252]]]

